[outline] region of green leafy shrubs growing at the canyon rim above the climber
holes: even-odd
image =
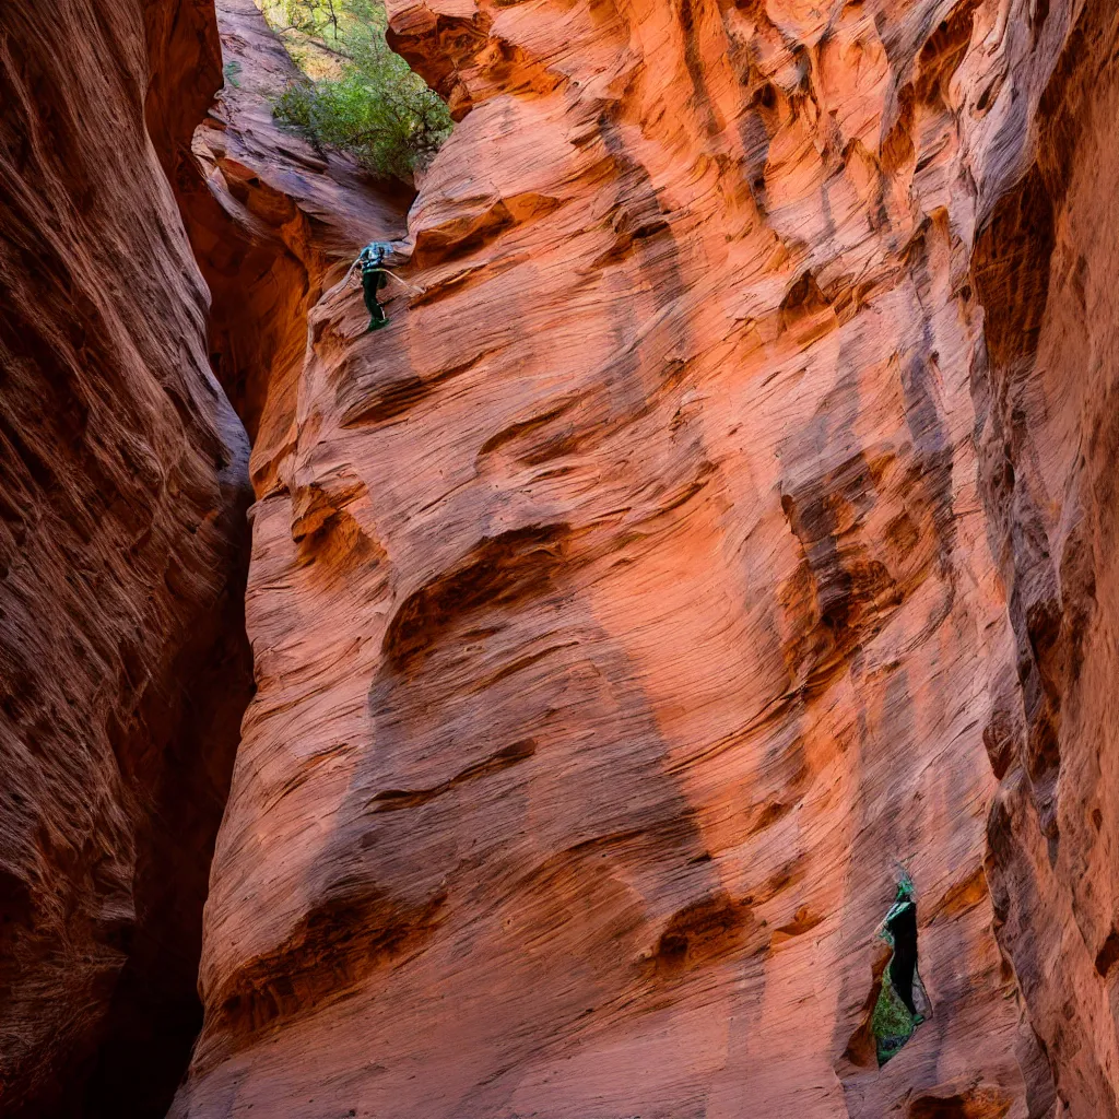
[[[380,0],[257,2],[305,75],[276,98],[276,117],[374,175],[411,182],[450,134],[451,116],[389,49]]]

